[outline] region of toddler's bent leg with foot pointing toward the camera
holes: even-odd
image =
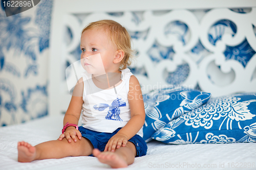
[[[94,149],[93,155],[100,162],[109,164],[113,168],[126,167],[134,162],[136,148],[132,142],[128,141],[125,147],[116,149],[115,152],[100,152]]]

